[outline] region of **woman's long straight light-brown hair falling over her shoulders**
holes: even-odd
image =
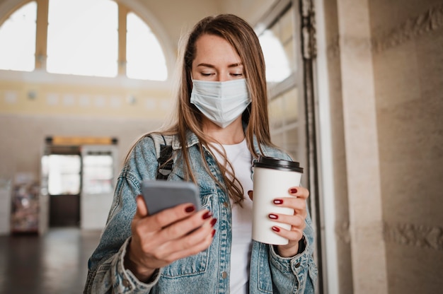
[[[258,154],[253,148],[253,136],[255,135],[258,146],[272,145],[270,141],[269,122],[267,117],[267,88],[265,80],[265,60],[260,47],[260,42],[251,25],[245,20],[232,14],[221,14],[209,16],[198,22],[191,30],[183,47],[180,49],[179,66],[180,79],[177,90],[177,106],[175,120],[170,126],[162,131],[163,134],[176,134],[182,147],[186,146],[186,133],[192,131],[199,139],[199,147],[204,159],[203,147],[208,150],[210,138],[202,131],[202,113],[195,105],[190,103],[190,93],[192,90],[191,69],[192,61],[195,59],[195,43],[202,35],[217,35],[228,41],[236,50],[243,63],[244,74],[248,83],[248,90],[251,96],[251,104],[242,114],[243,123],[246,124],[246,141],[249,151],[254,157]],[[182,148],[185,179],[196,182],[194,172],[191,169],[188,150]],[[229,161],[224,156],[226,163]],[[205,160],[203,160],[205,162]],[[220,187],[226,187],[227,192],[234,203],[240,204],[243,201],[243,188],[235,175],[226,166],[219,164],[222,172],[224,186],[210,172],[214,181]],[[231,177],[228,177],[230,175]],[[238,183],[238,184],[236,184]]]

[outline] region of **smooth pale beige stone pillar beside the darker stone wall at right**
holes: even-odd
[[[338,0],[354,293],[388,293],[367,0]]]

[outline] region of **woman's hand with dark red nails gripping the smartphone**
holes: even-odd
[[[196,212],[192,204],[180,204],[148,216],[142,196],[137,196],[136,201],[125,268],[139,281],[148,281],[156,269],[211,245],[217,219],[207,209]]]

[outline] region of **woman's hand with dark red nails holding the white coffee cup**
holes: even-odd
[[[289,240],[287,245],[278,245],[278,254],[282,257],[293,257],[299,251],[299,241],[303,237],[303,230],[306,226],[304,220],[308,213],[306,211],[306,199],[309,191],[304,187],[291,187],[289,194],[292,197],[282,197],[274,199],[274,204],[282,207],[294,208],[294,215],[270,213],[270,219],[277,223],[287,223],[291,225],[291,230],[285,230],[278,225],[272,227],[277,234]],[[249,198],[253,199],[253,192],[248,192]]]

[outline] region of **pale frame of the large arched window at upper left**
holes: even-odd
[[[23,80],[25,76],[28,81],[38,82],[50,82],[50,83],[69,83],[81,84],[85,83],[98,85],[98,86],[110,86],[115,85],[115,80],[118,83],[123,83],[126,86],[137,88],[165,88],[165,86],[171,83],[171,73],[176,63],[175,50],[171,47],[171,42],[167,38],[167,34],[164,32],[161,23],[156,20],[156,17],[150,13],[146,7],[140,6],[136,1],[115,1],[118,6],[118,55],[117,55],[117,76],[116,77],[103,77],[103,76],[78,76],[78,75],[66,75],[63,73],[48,73],[46,71],[46,58],[47,58],[47,19],[48,19],[48,7],[49,0],[6,0],[0,4],[0,11],[6,11],[4,15],[0,15],[0,25],[6,21],[11,14],[21,8],[23,5],[29,2],[35,1],[37,3],[37,23],[36,23],[36,37],[35,37],[35,69],[30,72],[23,71],[9,71],[0,70],[0,78],[5,80]],[[146,25],[149,26],[151,31],[159,41],[159,45],[163,51],[163,55],[166,59],[166,70],[168,72],[166,81],[153,81],[153,80],[141,80],[128,78],[126,76],[126,20],[127,13],[135,13],[141,18]],[[147,21],[149,20],[149,21]]]

